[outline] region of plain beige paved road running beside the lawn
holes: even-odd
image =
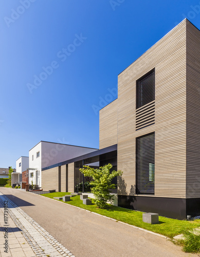
[[[0,188],[76,257],[194,256],[165,238],[41,195]]]

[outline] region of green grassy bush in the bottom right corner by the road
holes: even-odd
[[[199,253],[200,252],[200,233],[195,231],[184,232],[185,240],[183,241],[185,252]]]

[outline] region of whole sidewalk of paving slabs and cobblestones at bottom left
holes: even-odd
[[[1,192],[0,225],[1,257],[75,257]],[[8,252],[5,252],[7,246]]]

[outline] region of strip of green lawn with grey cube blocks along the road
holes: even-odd
[[[42,194],[43,196],[53,198],[55,196],[64,196],[70,193],[50,193],[50,194]],[[62,201],[62,200],[60,200]],[[162,235],[166,235],[172,238],[175,235],[183,233],[185,230],[189,230],[192,228],[196,228],[200,226],[200,220],[196,221],[179,221],[178,219],[166,218],[159,216],[159,224],[148,224],[142,222],[142,212],[133,211],[129,209],[124,209],[121,207],[116,207],[110,205],[107,209],[99,209],[94,204],[94,200],[92,199],[92,203],[94,205],[83,205],[82,200],[80,200],[80,196],[71,197],[70,201],[66,202],[67,204],[81,207],[83,209],[97,212],[107,217],[115,218],[117,221],[125,222],[140,228],[144,228]]]

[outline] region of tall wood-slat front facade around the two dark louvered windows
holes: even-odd
[[[136,81],[155,68],[155,124],[136,131]],[[139,111],[139,110],[138,110]],[[136,138],[155,132],[155,196],[186,197],[186,20],[118,76],[118,194],[134,195]]]

